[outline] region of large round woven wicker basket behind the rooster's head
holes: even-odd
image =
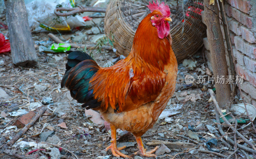
[[[188,0],[183,4],[175,0],[167,1],[171,9],[172,22],[170,23],[172,35],[172,49],[178,63],[196,53],[203,45],[203,38],[206,37],[206,26],[201,19],[201,11],[204,10],[203,0]],[[105,15],[105,33],[110,31],[115,35],[114,47],[116,54],[128,56],[132,42],[140,21],[150,13],[148,0],[111,0],[108,4]],[[185,22],[184,21],[185,16]],[[182,29],[183,33],[182,33]]]

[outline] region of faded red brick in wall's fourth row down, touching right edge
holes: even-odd
[[[241,37],[235,36],[234,37],[234,43],[236,46],[236,49],[240,52],[244,53],[245,55],[249,56],[252,59],[256,59],[256,45],[250,44],[246,41],[244,41]]]

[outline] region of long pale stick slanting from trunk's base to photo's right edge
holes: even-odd
[[[209,93],[211,94],[211,97],[212,97],[212,100],[213,100],[213,103],[217,109],[217,111],[219,112],[220,115],[223,115],[221,110],[220,110],[220,107],[218,105],[218,102],[216,101],[215,97],[214,97],[214,93],[212,91],[212,89],[208,89]],[[254,150],[256,150],[256,148],[254,147],[254,145],[248,141],[242,134],[240,134],[237,130],[235,130],[235,128],[233,126],[231,126],[231,123],[229,123],[229,121],[225,118],[225,117],[222,117],[222,119],[225,121],[225,123],[227,123],[228,125],[230,125],[230,128],[236,132],[236,134],[244,140],[244,142],[246,142],[248,145],[250,145]]]

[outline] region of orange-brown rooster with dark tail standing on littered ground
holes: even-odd
[[[175,90],[177,60],[172,51],[170,8],[153,1],[139,24],[129,56],[102,68],[88,54],[67,51],[68,62],[61,87],[86,109],[98,110],[110,123],[109,149],[116,157],[129,157],[116,146],[116,129],[134,135],[141,156],[155,157],[158,148],[146,151],[141,136],[157,121]]]

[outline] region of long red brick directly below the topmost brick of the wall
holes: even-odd
[[[237,21],[250,29],[252,28],[252,17],[250,17],[248,14],[228,5],[226,6],[225,10],[227,10],[227,15],[229,17],[235,18]]]

